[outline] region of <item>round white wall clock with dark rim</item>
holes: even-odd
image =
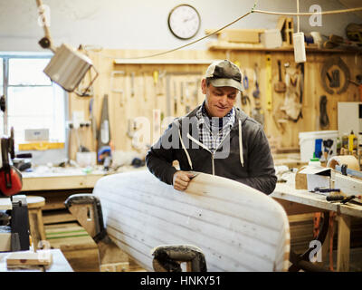
[[[172,34],[181,39],[194,37],[200,24],[200,15],[191,5],[178,5],[168,15],[169,29]]]

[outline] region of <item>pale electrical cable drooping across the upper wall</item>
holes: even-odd
[[[167,50],[165,52],[161,52],[161,53],[154,53],[154,54],[149,54],[149,55],[143,55],[143,56],[135,56],[135,57],[123,57],[123,58],[119,58],[119,59],[123,59],[123,60],[133,60],[133,59],[143,59],[143,58],[150,58],[150,57],[155,57],[155,56],[159,56],[159,55],[164,55],[167,53],[173,53],[176,52],[180,49],[183,49],[187,46],[190,46],[192,44],[198,43],[202,40],[204,40],[207,37],[210,37],[214,34],[217,34],[219,32],[221,32],[222,30],[224,30],[225,28],[229,27],[230,25],[242,20],[244,17],[246,17],[249,14],[252,13],[259,13],[259,14],[273,14],[273,15],[289,15],[289,16],[310,16],[310,15],[325,15],[325,14],[342,14],[342,13],[349,13],[349,12],[356,12],[356,11],[362,11],[362,7],[356,7],[356,8],[350,8],[350,9],[341,9],[341,10],[331,10],[331,11],[320,11],[320,12],[304,12],[304,13],[300,13],[299,12],[299,2],[298,2],[298,12],[297,13],[291,13],[291,12],[274,12],[274,11],[264,11],[264,10],[257,10],[255,9],[256,4],[258,1],[255,1],[254,5],[252,6],[252,9],[247,12],[246,14],[243,14],[242,16],[236,18],[235,20],[233,20],[233,22],[229,23],[229,24],[225,24],[223,27],[215,30],[213,33],[211,34],[206,34],[205,36],[196,39],[195,41],[191,42],[191,43],[186,43],[184,45],[178,46],[176,48]],[[299,20],[299,18],[298,18]],[[299,25],[298,25],[298,31],[299,31]],[[85,48],[87,48],[87,45],[84,46]],[[114,56],[110,56],[110,55],[106,55],[103,53],[99,53],[101,56],[103,57],[107,57],[107,58],[112,58],[114,59]]]

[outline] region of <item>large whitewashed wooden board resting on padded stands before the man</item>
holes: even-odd
[[[193,245],[207,271],[284,271],[290,231],[281,205],[231,179],[199,173],[186,191],[159,181],[148,170],[100,179],[107,232],[140,266],[153,271],[151,250]]]

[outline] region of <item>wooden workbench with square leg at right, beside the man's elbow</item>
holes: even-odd
[[[350,219],[352,217],[362,218],[362,205],[331,203],[326,200],[325,195],[309,192],[306,189],[294,189],[283,183],[277,184],[271,193],[271,198],[277,200],[288,215],[336,212],[338,215],[337,271],[349,270]]]

